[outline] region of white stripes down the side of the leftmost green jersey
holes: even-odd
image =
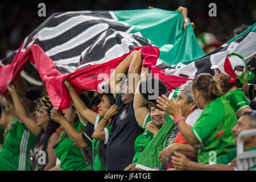
[[[29,137],[28,131],[24,130],[22,134],[22,139],[20,142],[20,148],[19,148],[19,167],[18,171],[24,171],[25,165],[26,165],[26,154],[24,154],[24,151],[26,151],[27,148],[27,140]]]

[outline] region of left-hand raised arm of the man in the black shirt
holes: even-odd
[[[118,76],[119,73],[126,73],[129,64],[131,63],[131,61],[133,60],[133,57],[135,56],[135,54],[138,51],[133,51],[130,53],[130,55],[128,55],[113,71],[113,73],[111,73],[111,75],[109,76],[109,88],[110,88],[110,92],[113,94],[114,98],[115,98],[115,94],[121,89],[121,84],[118,85],[118,82],[120,80],[117,80],[116,77]]]

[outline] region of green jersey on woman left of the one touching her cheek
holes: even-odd
[[[85,126],[82,122],[77,121],[73,126],[77,131]],[[60,134],[59,140],[65,134],[65,130]],[[58,142],[59,142],[58,140]],[[86,163],[79,147],[73,145],[73,141],[69,136],[64,138],[55,148],[55,154],[60,160],[61,171],[89,171],[90,164]]]

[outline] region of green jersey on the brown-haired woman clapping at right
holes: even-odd
[[[212,155],[218,158],[236,148],[232,128],[237,124],[237,116],[225,97],[218,97],[203,110],[192,127],[192,133],[203,144],[198,151],[198,162],[209,163]]]

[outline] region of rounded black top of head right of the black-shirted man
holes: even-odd
[[[144,99],[156,102],[156,99],[162,94],[166,94],[168,90],[163,81],[155,77],[150,77],[139,84],[139,92],[142,94]]]

